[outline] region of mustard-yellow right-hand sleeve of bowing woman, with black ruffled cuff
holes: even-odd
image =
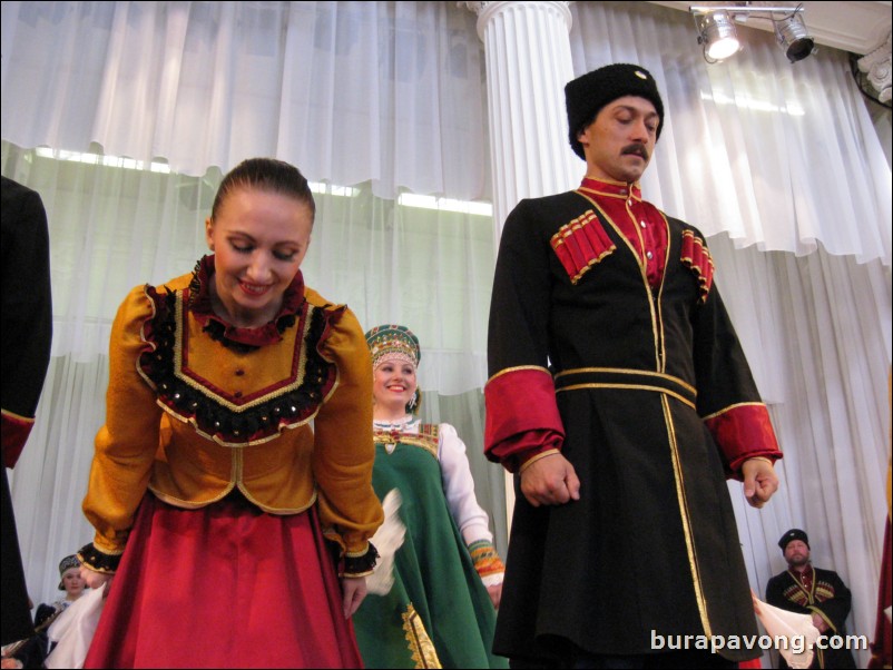
[[[323,354],[337,366],[337,383],[314,421],[313,473],[325,535],[344,550],[344,573],[371,573],[369,539],[384,520],[372,487],[372,359],[360,323],[344,309]]]

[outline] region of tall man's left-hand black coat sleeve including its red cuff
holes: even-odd
[[[484,452],[511,472],[560,449],[565,437],[547,354],[551,248],[531,235],[527,205],[514,208],[502,231],[487,346]]]

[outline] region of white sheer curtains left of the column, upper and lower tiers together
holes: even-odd
[[[307,284],[364,327],[419,335],[426,418],[457,425],[479,496],[502,501],[501,471],[481,455],[494,249],[487,207],[469,213],[489,190],[471,12],[3,2],[2,39],[2,174],[41,194],[51,227],[52,361],[10,473],[36,603],[57,597],[59,559],[92,536],[80,502],[117,305],[131,286],[192,270],[222,173],[249,156],[291,160],[316,183]],[[87,150],[104,156],[71,155]],[[431,209],[412,194],[462,201]],[[491,515],[504,550],[504,511]]]

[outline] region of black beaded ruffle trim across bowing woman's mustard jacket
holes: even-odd
[[[146,294],[155,304],[156,315],[144,325],[144,336],[155,348],[140,354],[140,370],[155,384],[161,403],[177,415],[194,420],[198,430],[207,435],[239,444],[272,437],[281,425],[293,425],[311,417],[335,384],[335,365],[323,358],[317,345],[328,336],[331,325],[341,317],[343,308],[315,308],[310,315],[306,336],[297,344],[305,348],[306,356],[304,378],[297,387],[244,412],[234,412],[175,374],[176,314],[181,294],[170,292],[163,297],[151,286],[146,287]]]

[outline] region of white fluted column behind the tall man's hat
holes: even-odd
[[[465,2],[487,61],[497,239],[521,198],[573,188],[585,165],[568,144],[565,85],[573,78],[569,2]]]

